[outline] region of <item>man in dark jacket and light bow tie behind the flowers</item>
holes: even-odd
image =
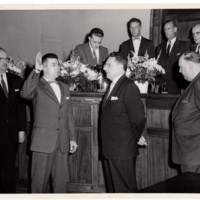
[[[120,53],[124,56],[131,55],[131,51],[135,56],[149,55],[149,58],[155,57],[155,47],[151,40],[141,36],[142,22],[140,19],[132,18],[128,22],[128,30],[131,38],[123,42],[120,46]]]

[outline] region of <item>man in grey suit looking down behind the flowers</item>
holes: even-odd
[[[74,55],[80,57],[80,61],[94,67],[102,65],[108,57],[108,49],[101,46],[104,32],[100,28],[93,28],[88,36],[89,42],[79,44],[74,49]]]

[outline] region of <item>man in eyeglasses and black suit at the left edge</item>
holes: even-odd
[[[6,73],[7,52],[0,48],[0,192],[15,193],[18,142],[25,140],[26,109],[20,100],[20,77]]]

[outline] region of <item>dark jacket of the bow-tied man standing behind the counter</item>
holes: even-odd
[[[132,38],[123,42],[119,48],[119,52],[126,57],[128,56],[129,53],[131,53],[131,51],[135,52]],[[146,51],[149,54],[149,58],[155,57],[155,47],[153,45],[153,42],[151,40],[142,37],[138,51],[138,56],[144,56]]]

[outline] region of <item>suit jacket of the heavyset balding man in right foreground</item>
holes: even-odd
[[[172,122],[173,162],[200,165],[200,73],[178,99]]]

